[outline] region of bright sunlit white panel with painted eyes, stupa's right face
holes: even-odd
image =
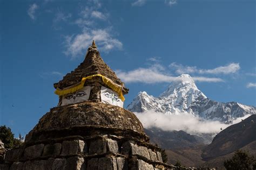
[[[116,105],[123,108],[123,101],[119,98],[118,94],[106,87],[100,89],[100,97],[102,98],[102,103]]]

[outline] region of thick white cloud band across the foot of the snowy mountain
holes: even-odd
[[[191,114],[180,113],[180,115],[166,115],[161,112],[147,111],[142,113],[134,112],[134,114],[142,122],[144,128],[152,127],[160,128],[164,131],[183,130],[188,133],[218,133],[220,128],[223,130],[231,124],[221,123],[219,121],[209,121],[195,117]],[[232,124],[241,122],[250,115],[237,118]]]

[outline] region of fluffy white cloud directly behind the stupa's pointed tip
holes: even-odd
[[[84,30],[76,36],[65,37],[66,55],[71,55],[71,58],[76,58],[78,54],[86,52],[91,45],[92,40],[96,41],[96,45],[102,51],[108,52],[111,49],[122,49],[123,44],[118,39],[112,37],[110,30]]]

